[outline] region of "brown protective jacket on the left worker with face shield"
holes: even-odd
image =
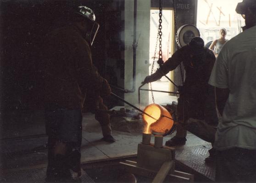
[[[100,91],[108,85],[92,64],[83,32],[74,23],[47,34],[41,55],[47,104],[81,109],[89,88]]]

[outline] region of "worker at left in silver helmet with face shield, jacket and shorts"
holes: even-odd
[[[90,47],[99,28],[86,6],[68,10],[47,32],[41,60],[44,77],[48,182],[71,182],[81,175],[82,108],[90,88],[110,94],[108,82],[92,64]]]

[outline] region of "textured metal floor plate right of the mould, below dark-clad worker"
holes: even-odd
[[[214,163],[205,162],[205,158],[209,156],[208,150],[211,145],[199,145],[184,147],[184,149],[176,149],[175,159],[178,164],[183,165],[189,172],[198,174],[208,178],[211,181],[215,180],[215,165]],[[196,175],[195,175],[196,176]]]

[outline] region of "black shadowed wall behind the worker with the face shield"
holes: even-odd
[[[124,84],[124,0],[2,0],[0,1],[0,130],[23,128],[44,120],[40,86],[40,46],[52,22],[69,6],[87,5],[100,29],[92,47],[100,74],[113,86]],[[123,97],[123,93],[113,89]],[[110,98],[111,108],[120,105]],[[122,104],[122,103],[121,103]],[[0,133],[4,135],[3,133]]]

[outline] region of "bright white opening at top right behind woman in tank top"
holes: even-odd
[[[220,28],[227,29],[227,39],[241,32],[244,19],[235,12],[242,0],[198,0],[197,27],[205,43],[219,38]]]

